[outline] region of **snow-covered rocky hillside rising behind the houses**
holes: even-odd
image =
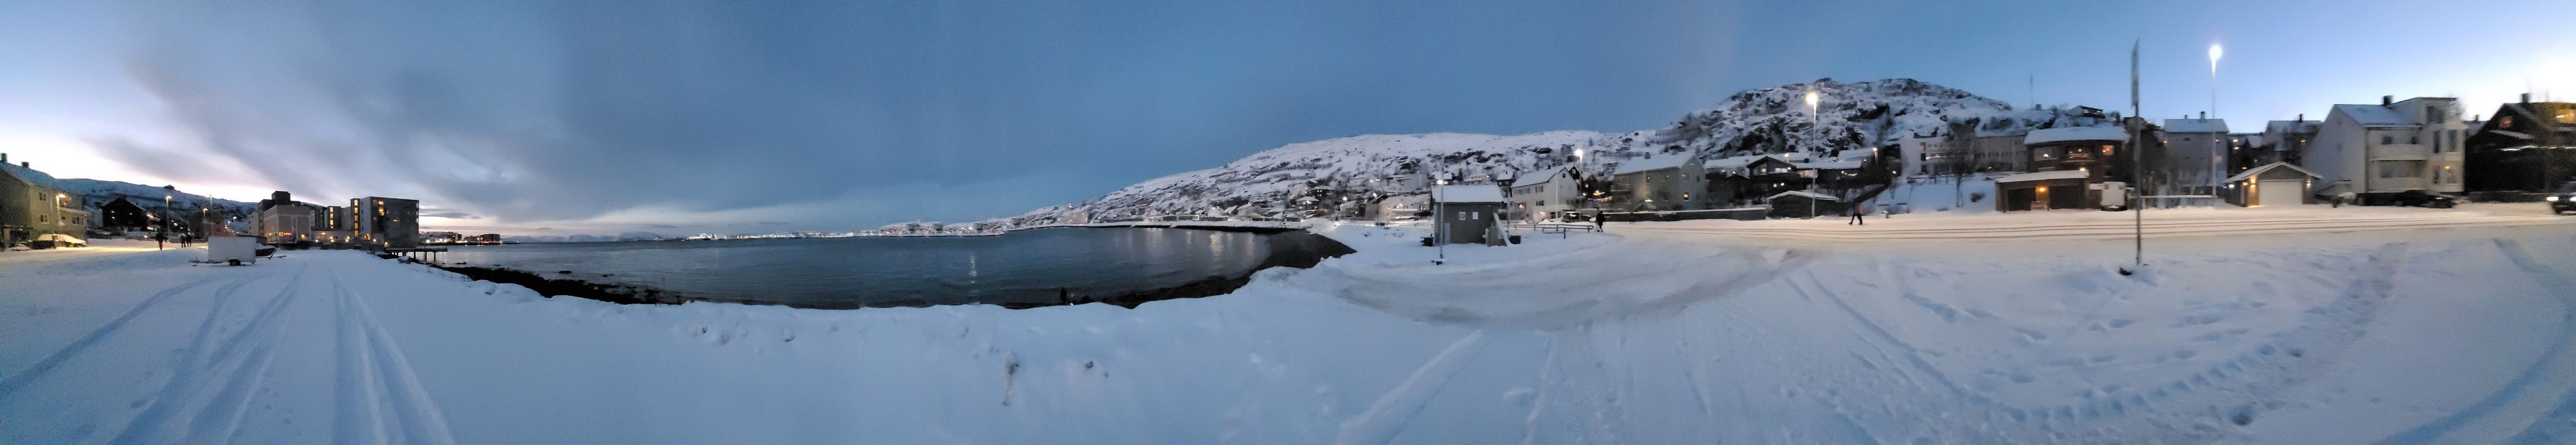
[[[1816,93],[1819,111],[1806,105]],[[1795,82],[1744,90],[1718,108],[1687,113],[1669,129],[1597,134],[1543,131],[1520,136],[1492,134],[1368,134],[1285,144],[1224,167],[1154,177],[1103,198],[1048,206],[1010,226],[1061,221],[1113,221],[1141,216],[1298,216],[1321,208],[1358,206],[1373,195],[1419,190],[1430,177],[1497,183],[1520,172],[1569,165],[1577,152],[1592,157],[1579,170],[1602,175],[1625,159],[1705,154],[1808,152],[1834,157],[1844,149],[1896,144],[1914,134],[1940,134],[1950,123],[1976,121],[1978,131],[2027,131],[2097,123],[2081,108],[2012,108],[1965,90],[1919,80],[1878,82]]]

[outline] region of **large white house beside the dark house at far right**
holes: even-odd
[[[2316,172],[2316,193],[2352,193],[2365,203],[2391,193],[2460,193],[2458,98],[2409,98],[2380,105],[2334,105],[2316,139],[2300,152],[2300,167]]]

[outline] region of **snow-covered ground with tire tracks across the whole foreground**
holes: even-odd
[[[0,442],[2576,440],[2576,219],[2378,211],[2174,232],[2141,275],[2094,234],[1690,221],[1430,250],[1319,224],[1360,252],[1023,311],[613,306],[355,252],[10,262]],[[2280,213],[2187,221],[2257,216]]]

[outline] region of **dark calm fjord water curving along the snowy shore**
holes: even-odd
[[[1347,247],[1306,232],[1030,229],[1002,237],[495,244],[451,247],[446,260],[649,286],[696,301],[855,309],[1043,306],[1059,304],[1061,293],[1084,301],[1206,288],[1262,268],[1311,268],[1342,252]]]

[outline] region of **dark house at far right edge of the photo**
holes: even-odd
[[[2468,193],[2553,193],[2576,180],[2576,103],[2504,103],[2468,136]]]

